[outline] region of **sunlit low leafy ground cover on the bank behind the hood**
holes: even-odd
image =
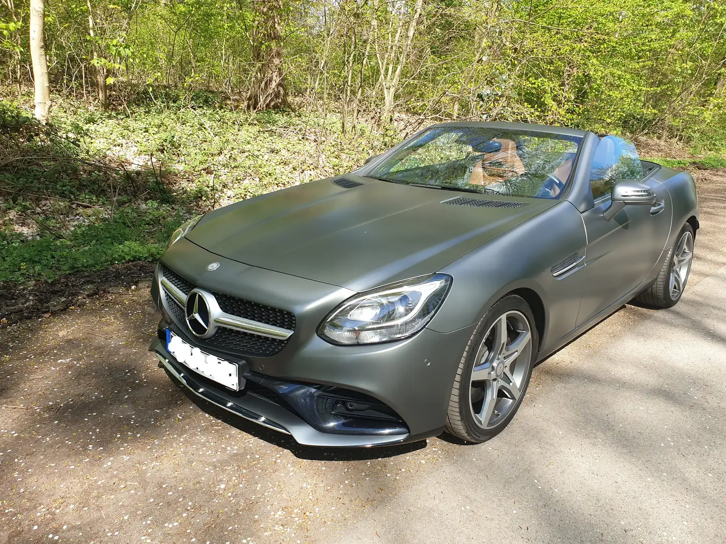
[[[54,112],[54,125],[72,133],[78,148],[91,156],[112,155],[147,166],[153,160],[163,177],[184,180],[177,199],[203,207],[352,170],[401,137],[364,126],[355,135],[343,135],[338,115],[235,112],[222,107],[218,95],[203,91],[183,96],[163,89],[155,99],[137,104],[133,115],[62,104]],[[60,187],[66,183],[57,171],[34,175],[41,183],[45,178]],[[73,190],[89,194],[83,179],[75,178]]]

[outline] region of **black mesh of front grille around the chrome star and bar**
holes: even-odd
[[[194,284],[182,278],[166,266],[162,265],[161,274],[169,283],[184,294],[189,294],[194,289]],[[229,296],[228,294],[219,292],[212,293],[219,303],[219,308],[225,313],[278,326],[290,331],[295,330],[295,314],[293,313],[258,304],[258,302],[242,300]],[[184,307],[168,293],[166,293],[166,305],[179,326],[187,329]],[[200,348],[206,347],[209,350],[221,350],[239,355],[269,357],[270,355],[280,353],[280,350],[287,344],[287,340],[268,338],[259,334],[219,327],[210,338],[195,339],[195,344],[199,345]]]

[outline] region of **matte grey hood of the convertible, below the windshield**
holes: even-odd
[[[220,208],[187,239],[241,263],[360,292],[436,272],[558,202],[346,179],[362,185],[314,181]],[[447,203],[454,199],[523,205]]]

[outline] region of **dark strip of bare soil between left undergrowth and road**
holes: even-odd
[[[0,284],[0,328],[58,310],[80,308],[89,300],[118,289],[148,289],[154,266],[138,261],[68,274],[52,283]]]

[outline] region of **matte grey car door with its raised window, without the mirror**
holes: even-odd
[[[671,221],[670,196],[664,186],[643,177],[643,165],[632,143],[616,136],[600,139],[590,171],[595,205],[582,214],[587,232],[587,287],[578,326],[640,285],[661,256]],[[648,184],[656,191],[656,204],[626,206],[611,221],[605,221],[603,212],[611,204],[612,184],[622,178]]]

